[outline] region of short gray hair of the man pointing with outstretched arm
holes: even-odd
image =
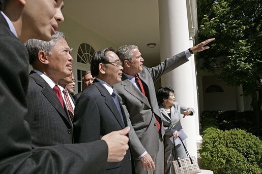
[[[132,52],[133,49],[138,49],[138,47],[135,45],[123,45],[115,52],[115,54],[118,55],[122,62],[124,62],[124,60],[131,61],[134,56]]]

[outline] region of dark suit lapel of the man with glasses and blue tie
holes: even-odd
[[[118,120],[119,124],[121,125],[122,128],[125,128],[123,125],[123,121],[121,119],[121,116],[119,115],[118,112],[118,108],[117,106],[115,106],[115,103],[113,101],[112,96],[109,94],[109,92],[107,91],[107,89],[97,80],[94,81],[95,83],[93,83],[93,85],[95,85],[98,90],[100,91],[101,95],[103,97],[105,97],[105,104],[107,105],[108,109],[113,113],[115,119]],[[125,115],[122,112],[123,117],[125,117]]]

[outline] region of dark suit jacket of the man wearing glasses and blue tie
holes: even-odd
[[[117,107],[107,89],[98,81],[86,88],[78,98],[75,106],[74,138],[77,143],[92,142],[112,131],[127,126],[121,120]],[[131,173],[130,150],[121,162],[108,162],[105,173]]]

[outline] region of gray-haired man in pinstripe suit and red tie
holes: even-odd
[[[62,97],[63,88],[57,86],[58,81],[70,76],[72,71],[73,58],[64,33],[56,31],[49,42],[28,40],[25,47],[34,68],[29,76],[28,114],[25,116],[33,148],[73,143],[73,124]]]

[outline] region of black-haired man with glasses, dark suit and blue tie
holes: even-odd
[[[112,86],[122,78],[122,63],[111,47],[97,51],[91,61],[91,73],[96,77],[77,100],[74,118],[74,137],[77,143],[92,142],[127,126],[123,109]],[[105,173],[131,173],[131,154],[128,150],[118,163],[108,162]]]

